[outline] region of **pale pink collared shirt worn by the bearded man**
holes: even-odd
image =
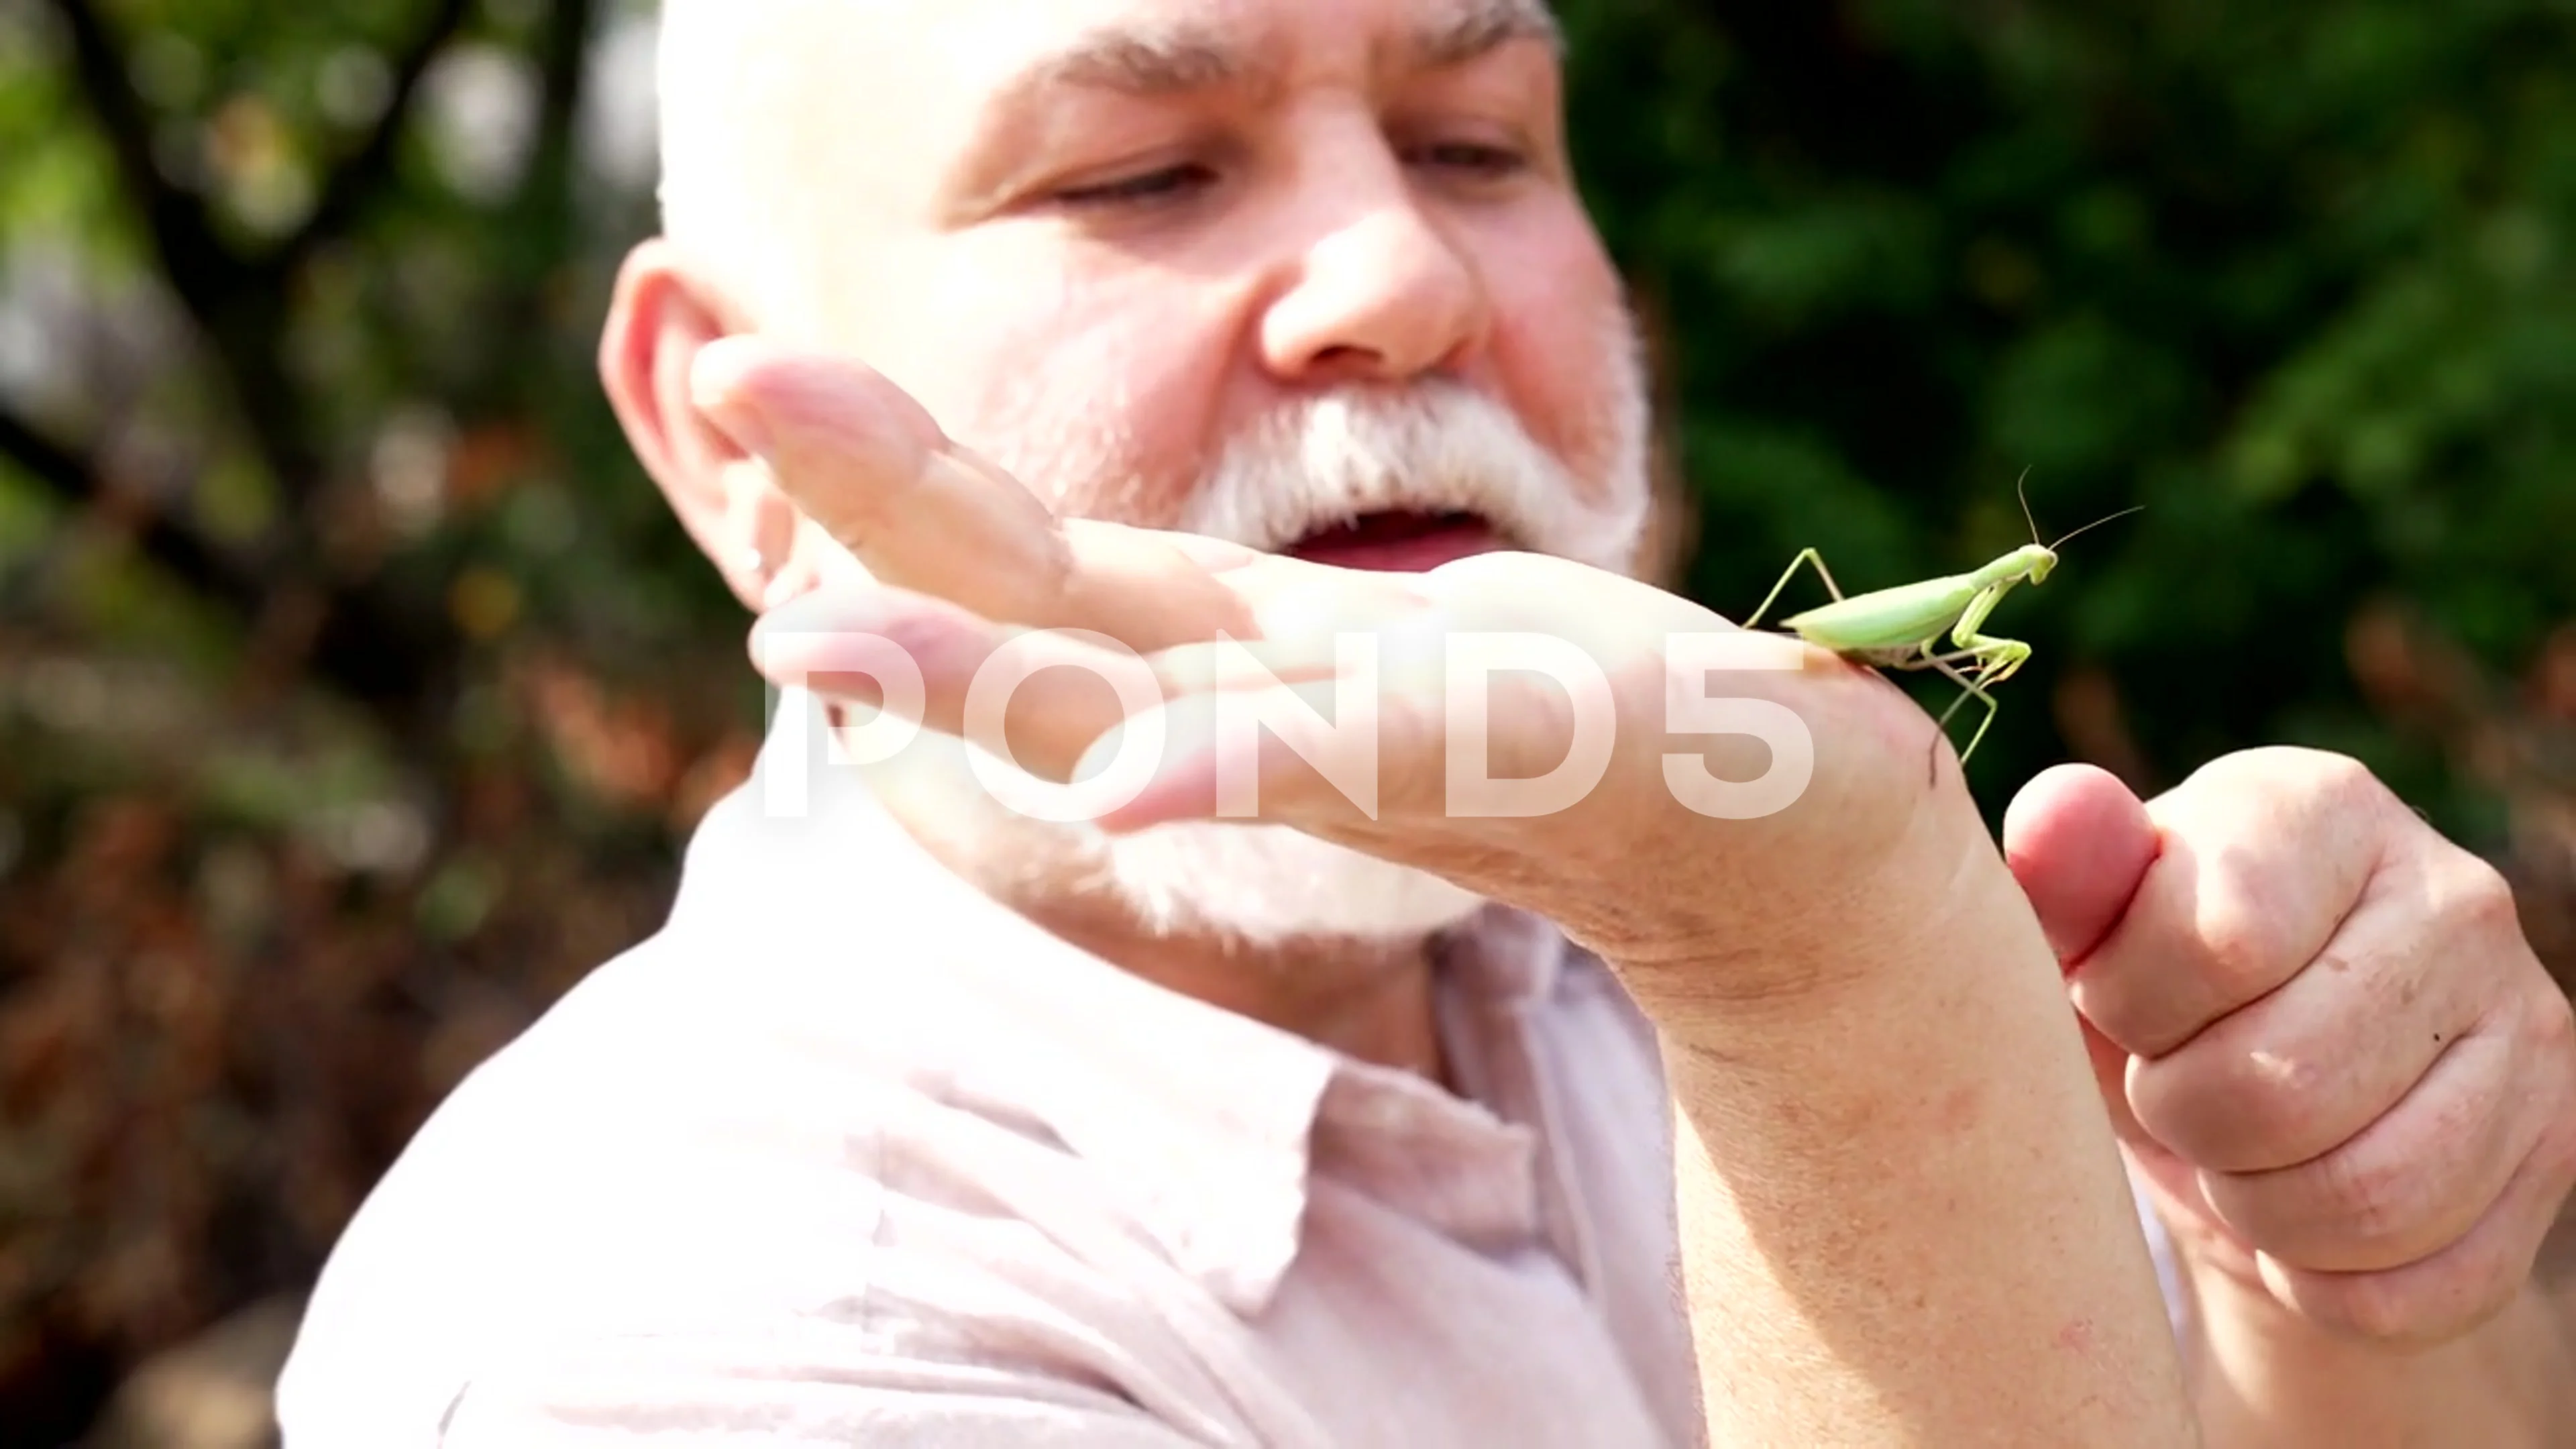
[[[1654,1031],[1553,928],[1443,946],[1458,1098],[811,786],[726,799],[667,928],[410,1145],[314,1292],[289,1449],[1703,1439]]]

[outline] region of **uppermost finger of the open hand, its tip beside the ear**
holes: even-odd
[[[1139,652],[1255,634],[1252,606],[1221,575],[1265,554],[1059,521],[858,361],[721,338],[698,353],[690,392],[881,583]]]

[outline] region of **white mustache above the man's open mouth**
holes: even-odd
[[[1641,449],[1618,428],[1587,487],[1492,397],[1422,382],[1332,392],[1265,418],[1229,443],[1182,529],[1275,552],[1368,513],[1473,513],[1510,547],[1615,570],[1646,523]]]

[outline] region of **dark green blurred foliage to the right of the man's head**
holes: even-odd
[[[2048,536],[2146,513],[1991,621],[2040,655],[1989,804],[2308,743],[2494,828],[2344,639],[2391,596],[2522,673],[2576,619],[2576,8],[1561,10],[1672,333],[1698,598],[1741,614],[1806,544],[1844,588],[1968,567],[2027,539],[2027,469]]]

